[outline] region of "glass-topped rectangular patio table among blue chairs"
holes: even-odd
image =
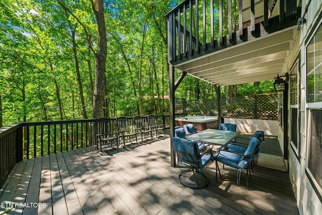
[[[236,136],[239,135],[238,131],[229,130],[218,130],[218,129],[206,129],[190,136],[187,139],[204,142],[205,144],[218,145],[225,147],[228,145]],[[221,148],[220,147],[220,148]]]

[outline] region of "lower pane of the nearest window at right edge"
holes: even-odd
[[[308,170],[322,189],[322,110],[309,111]]]

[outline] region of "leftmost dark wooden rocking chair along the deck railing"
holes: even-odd
[[[99,118],[96,121],[97,150],[100,150],[100,152],[105,146],[117,146],[117,149],[119,149],[119,138],[117,133],[113,132],[111,121],[110,118]]]

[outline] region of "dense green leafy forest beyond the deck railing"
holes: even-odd
[[[1,1],[0,127],[20,121],[167,114],[164,15],[180,2]],[[237,13],[235,1],[232,8]],[[221,88],[222,97],[269,92],[270,81]],[[101,96],[102,110],[95,109],[99,100],[93,95]],[[176,97],[214,99],[216,94],[211,84],[186,76]]]

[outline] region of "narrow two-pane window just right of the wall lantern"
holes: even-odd
[[[300,57],[298,57],[299,59]],[[289,75],[289,86],[290,86],[290,140],[291,146],[295,148],[295,152],[299,155],[299,60],[297,60]]]

